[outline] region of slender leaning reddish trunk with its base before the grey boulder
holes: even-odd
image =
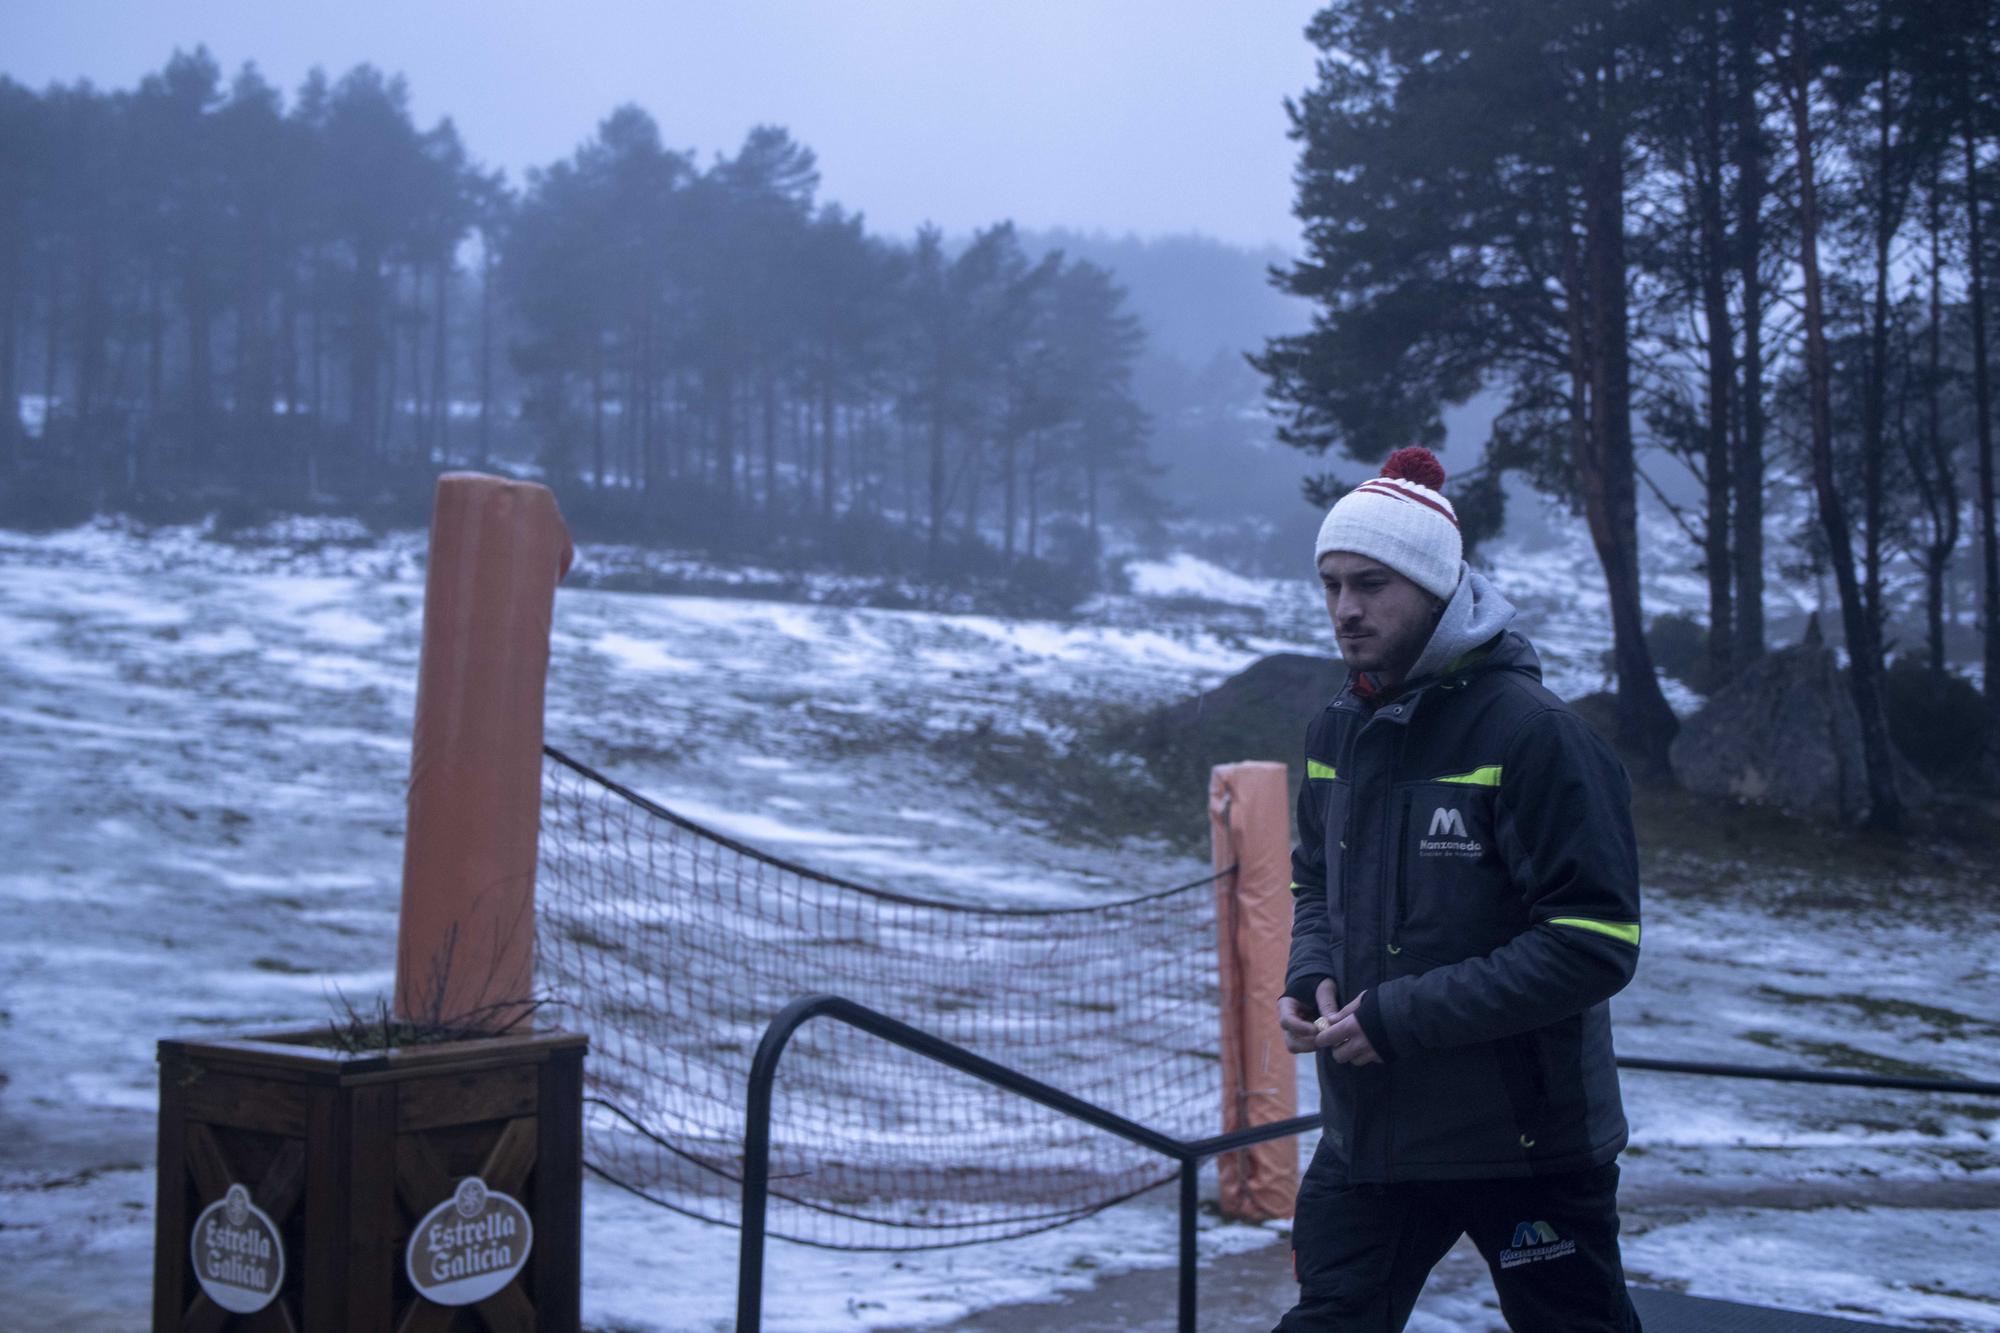
[[[1808,56],[1804,8],[1792,10],[1790,88],[1792,144],[1798,162],[1798,262],[1806,282],[1806,398],[1812,428],[1812,486],[1820,524],[1826,530],[1834,584],[1840,590],[1840,620],[1848,636],[1848,683],[1862,723],[1862,755],[1868,765],[1868,825],[1900,831],[1902,795],[1882,715],[1882,640],[1854,574],[1854,546],[1846,506],[1834,484],[1832,368],[1826,352],[1826,310],[1820,290],[1820,198],[1812,160],[1812,64]]]

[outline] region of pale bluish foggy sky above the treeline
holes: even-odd
[[[872,230],[1204,232],[1296,248],[1282,98],[1306,0],[6,0],[0,72],[130,88],[206,44],[288,94],[320,64],[406,74],[520,184],[638,102],[706,162],[760,122]]]

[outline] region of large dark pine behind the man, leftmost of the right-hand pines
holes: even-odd
[[[1494,384],[1504,462],[1572,498],[1610,592],[1620,741],[1666,767],[1646,646],[1630,402],[1626,166],[1658,34],[1636,4],[1354,0],[1292,104],[1314,330],[1256,364],[1280,438],[1358,458],[1442,440]]]

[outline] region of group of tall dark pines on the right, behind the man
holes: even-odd
[[[1890,562],[1922,570],[1932,703],[1946,580],[1982,584],[2000,713],[1990,286],[2000,40],[1986,0],[1344,0],[1292,104],[1320,312],[1258,368],[1284,438],[1380,458],[1498,394],[1474,516],[1526,472],[1590,524],[1616,632],[1620,735],[1674,735],[1644,632],[1640,446],[1700,478],[1674,506],[1708,580],[1706,677],[1766,652],[1766,494],[1838,588],[1870,819],[1904,819],[1884,723]]]

